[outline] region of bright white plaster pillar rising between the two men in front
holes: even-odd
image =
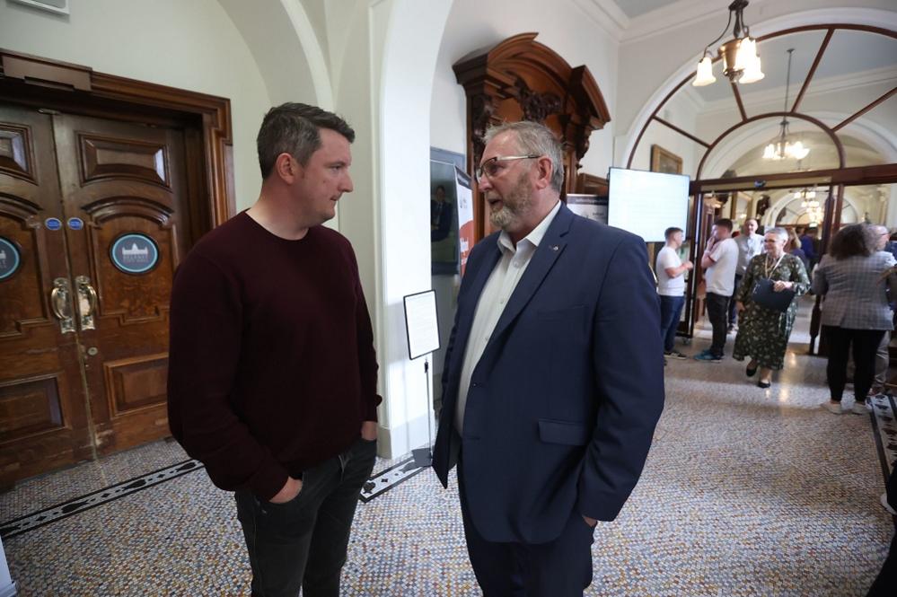
[[[430,106],[436,59],[453,0],[391,0],[372,5],[374,28],[383,26],[377,156],[382,248],[383,312],[379,355],[389,422],[390,452],[427,443],[431,419],[427,378],[408,356],[402,297],[431,286],[429,205]],[[375,68],[376,70],[376,68]]]

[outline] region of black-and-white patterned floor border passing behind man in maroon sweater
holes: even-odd
[[[390,468],[378,472],[365,483],[365,487],[362,488],[360,500],[362,503],[366,504],[375,497],[382,496],[383,493],[389,491],[391,488],[414,477],[425,468],[419,468],[415,465],[413,458],[402,460],[398,464],[394,464]],[[21,535],[23,532],[38,529],[50,522],[56,522],[68,518],[69,516],[74,516],[75,514],[81,514],[99,505],[108,504],[120,497],[129,496],[137,491],[142,491],[147,487],[153,487],[160,483],[164,483],[165,481],[170,481],[173,478],[178,478],[181,475],[186,475],[195,470],[203,469],[205,469],[205,466],[203,466],[202,462],[197,460],[178,462],[169,467],[165,467],[164,469],[154,470],[153,472],[140,477],[129,478],[127,481],[122,481],[116,485],[104,487],[98,491],[85,494],[84,496],[75,497],[74,499],[61,504],[51,505],[48,508],[44,508],[43,510],[31,514],[25,514],[12,521],[0,522],[0,539],[10,539],[16,535]]]

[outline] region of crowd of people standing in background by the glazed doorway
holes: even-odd
[[[758,229],[757,220],[750,218],[733,236],[731,220],[714,222],[700,257],[711,343],[693,358],[720,363],[727,335],[734,333],[732,357],[750,359],[746,375],[759,372],[757,385],[769,388],[773,372],[785,364],[798,298],[813,292],[823,297],[822,333],[829,354],[830,400],[822,406],[840,414],[850,378],[855,394],[851,410],[866,413],[866,397],[884,388],[890,360],[897,242],[890,241],[891,233],[882,225],[849,224],[834,235],[820,259],[816,229],[772,227],[762,234]],[[665,237],[655,262],[664,357],[686,359],[675,348],[675,337],[685,277],[694,265],[680,257],[680,228],[667,229]]]

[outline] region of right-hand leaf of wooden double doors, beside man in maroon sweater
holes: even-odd
[[[183,134],[68,115],[54,127],[66,218],[84,223],[66,236],[79,324],[92,318],[78,333],[95,440],[114,452],[169,434],[171,278],[189,241]]]

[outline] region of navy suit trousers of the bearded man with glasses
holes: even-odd
[[[582,597],[592,584],[594,528],[581,514],[570,513],[548,543],[497,543],[483,539],[470,520],[461,470],[458,487],[467,552],[484,597]]]

